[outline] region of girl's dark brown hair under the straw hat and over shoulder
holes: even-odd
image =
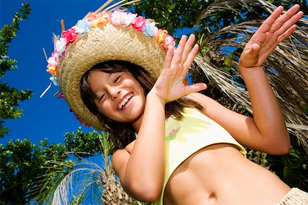
[[[128,71],[133,74],[133,77],[140,83],[144,89],[145,96],[149,94],[152,89],[156,78],[151,76],[149,72],[146,72],[142,67],[136,64],[131,64],[127,61],[105,61],[103,63],[97,64],[86,71],[84,76],[81,77],[80,81],[80,94],[81,98],[88,107],[88,109],[99,118],[103,127],[110,133],[110,140],[114,143],[115,148],[124,148],[131,141],[135,140],[135,131],[133,126],[129,123],[115,122],[108,119],[105,115],[99,113],[97,105],[94,103],[95,94],[92,92],[90,87],[89,73],[91,70],[101,70],[102,72],[114,73]],[[166,117],[173,115],[177,120],[181,120],[182,112],[185,107],[195,107],[196,109],[203,109],[194,100],[190,98],[179,98],[178,100],[168,102],[165,105]]]

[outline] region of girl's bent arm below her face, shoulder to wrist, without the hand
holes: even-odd
[[[146,97],[138,138],[127,148],[116,150],[112,163],[125,191],[142,202],[159,197],[164,181],[164,100]]]

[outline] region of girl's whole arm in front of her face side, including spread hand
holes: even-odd
[[[142,122],[137,130],[138,138],[134,141],[131,153],[129,149],[122,149],[112,156],[114,169],[125,191],[143,202],[157,200],[164,183],[166,102],[206,88],[204,83],[183,84],[198,52],[197,45],[192,49],[194,36],[186,40],[185,36],[181,38],[175,55],[173,49],[167,52],[164,69],[146,96]]]

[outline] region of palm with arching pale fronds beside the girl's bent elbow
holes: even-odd
[[[73,161],[49,161],[55,170],[44,175],[42,186],[52,184],[50,189],[36,195],[36,202],[52,204],[133,204],[125,193],[110,163],[114,149],[107,134],[99,135],[99,148],[103,156],[101,165],[81,159]],[[59,167],[59,168],[57,168]],[[51,183],[52,182],[52,183]],[[41,189],[42,190],[42,189]],[[46,197],[48,196],[48,197]]]

